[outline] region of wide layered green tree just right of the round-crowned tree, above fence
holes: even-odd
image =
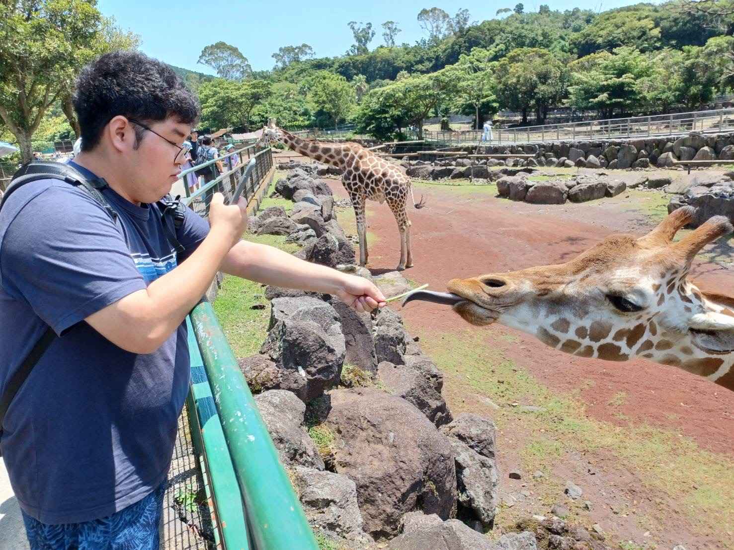
[[[568,104],[580,110],[598,109],[604,118],[624,116],[645,104],[639,82],[653,74],[653,62],[640,51],[624,47],[601,51],[570,64]]]

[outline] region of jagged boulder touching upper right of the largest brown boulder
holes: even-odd
[[[406,364],[386,361],[377,365],[377,375],[391,394],[413,403],[436,426],[451,422],[451,413],[441,395],[443,375],[425,356],[405,356]]]

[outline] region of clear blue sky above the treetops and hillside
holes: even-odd
[[[526,12],[537,11],[540,4],[551,10],[574,7],[596,11],[636,4],[625,0],[525,0]],[[283,45],[310,44],[316,56],[336,56],[352,44],[349,21],[372,23],[376,31],[370,48],[382,44],[382,23],[395,21],[402,32],[398,43],[415,43],[426,36],[416,17],[424,7],[440,7],[454,15],[467,8],[471,21],[484,21],[504,7],[515,7],[517,0],[411,1],[411,0],[332,0],[332,1],[245,1],[245,0],[98,0],[104,15],[113,15],[123,29],[142,37],[141,49],[161,61],[213,73],[198,65],[201,50],[224,40],[235,45],[250,60],[255,70],[270,69],[273,52]]]

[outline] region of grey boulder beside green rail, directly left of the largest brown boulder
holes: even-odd
[[[302,428],[306,411],[302,400],[284,389],[270,389],[255,395],[255,403],[283,464],[324,469],[316,445]]]

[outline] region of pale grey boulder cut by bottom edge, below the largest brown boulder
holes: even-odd
[[[401,535],[390,540],[388,550],[498,550],[458,519],[442,521],[435,514],[413,512],[404,516],[402,524]]]

